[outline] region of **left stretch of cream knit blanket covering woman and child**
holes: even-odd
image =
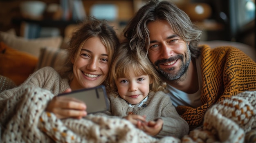
[[[7,101],[0,115],[1,143],[180,143],[168,136],[156,139],[125,119],[88,115],[83,119],[57,119],[45,112],[54,95],[23,86]]]

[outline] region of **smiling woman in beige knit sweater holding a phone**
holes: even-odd
[[[54,96],[62,92],[104,84],[118,44],[119,39],[115,31],[106,21],[88,19],[73,33],[67,49],[66,62],[60,74],[50,67],[37,70],[20,86],[1,92],[1,108],[7,106],[13,95],[24,90],[24,86],[30,85],[52,92],[45,110],[52,112],[57,118],[80,119],[86,116],[85,103],[65,96]],[[6,125],[4,122],[1,123],[3,126]]]

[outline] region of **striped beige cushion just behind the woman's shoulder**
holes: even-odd
[[[36,70],[45,66],[51,66],[58,71],[65,64],[66,58],[67,51],[65,49],[41,48]]]

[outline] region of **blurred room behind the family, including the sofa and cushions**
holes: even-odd
[[[203,31],[199,44],[234,46],[256,62],[255,0],[171,1]],[[0,84],[20,85],[45,66],[62,68],[72,32],[88,16],[108,20],[122,40],[122,30],[145,2],[0,0]]]

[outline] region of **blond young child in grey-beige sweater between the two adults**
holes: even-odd
[[[163,91],[161,79],[145,55],[139,58],[127,43],[117,48],[106,86],[109,110],[97,115],[119,116],[156,137],[181,138],[189,132]]]

